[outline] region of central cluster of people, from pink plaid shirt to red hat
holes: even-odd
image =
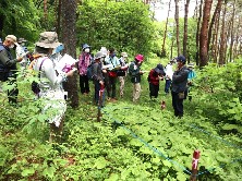
[[[101,47],[94,58],[90,55],[90,46],[84,44],[82,46],[82,53],[78,57],[78,73],[80,73],[80,88],[82,94],[89,93],[89,81],[94,83],[94,98],[95,102],[99,102],[99,92],[104,88],[107,90],[108,100],[117,100],[117,81],[120,82],[119,96],[124,95],[125,76],[129,72],[133,87],[133,101],[137,101],[141,95],[141,64],[144,61],[143,55],[136,55],[134,61],[130,64],[126,61],[128,53],[122,52],[121,58],[118,58],[116,50]],[[92,71],[92,79],[88,77],[88,70]],[[105,94],[102,94],[105,97]],[[105,98],[102,97],[104,106]]]

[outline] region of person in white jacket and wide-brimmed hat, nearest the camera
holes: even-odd
[[[66,110],[65,92],[62,82],[66,76],[73,75],[75,70],[69,72],[59,71],[57,73],[57,62],[52,57],[53,50],[60,46],[57,33],[44,32],[39,41],[36,43],[35,53],[39,56],[33,64],[33,69],[40,73],[39,76],[39,98],[44,100],[43,113],[48,116],[50,124],[49,142],[56,142],[61,137],[63,130],[63,118]]]

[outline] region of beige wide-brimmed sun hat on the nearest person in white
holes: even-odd
[[[39,41],[37,41],[35,45],[43,48],[57,48],[62,44],[59,43],[56,32],[44,32],[40,33]]]

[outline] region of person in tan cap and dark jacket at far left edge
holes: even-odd
[[[8,35],[5,40],[0,44],[0,82],[5,82],[11,77],[10,84],[15,83],[16,79],[16,62],[23,60],[23,57],[13,59],[10,49],[16,45],[16,37],[14,35]],[[0,85],[1,89],[1,85]],[[16,86],[8,90],[8,98],[10,104],[17,102],[19,89]]]

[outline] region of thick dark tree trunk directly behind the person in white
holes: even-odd
[[[64,44],[64,51],[76,58],[76,1],[62,0],[62,41]],[[76,108],[78,106],[77,93],[77,74],[68,79],[64,83],[64,89],[69,93],[71,106]]]

